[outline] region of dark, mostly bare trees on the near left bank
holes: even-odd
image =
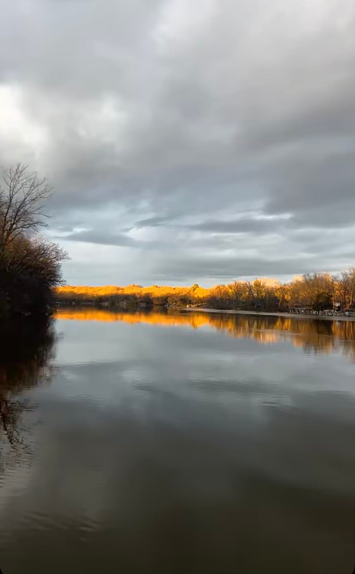
[[[46,226],[47,180],[17,164],[0,183],[0,316],[48,313],[53,288],[63,284],[67,253],[38,235]]]

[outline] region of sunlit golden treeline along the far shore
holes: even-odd
[[[117,306],[211,307],[215,309],[255,309],[285,311],[292,307],[352,309],[355,306],[355,267],[338,276],[328,273],[305,274],[289,283],[257,278],[254,281],[233,281],[205,289],[191,287],[128,285],[103,287],[67,285],[56,290],[57,300],[79,304],[91,302]]]

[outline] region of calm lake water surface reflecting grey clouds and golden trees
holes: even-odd
[[[353,571],[355,323],[91,310],[2,335],[3,574]]]

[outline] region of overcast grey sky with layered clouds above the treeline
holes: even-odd
[[[69,284],[355,263],[353,0],[0,0],[0,164]]]

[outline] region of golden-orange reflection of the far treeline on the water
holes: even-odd
[[[321,321],[314,317],[277,315],[268,313],[202,312],[194,309],[183,311],[109,311],[103,309],[58,309],[57,319],[79,321],[124,321],[125,323],[149,323],[152,325],[188,325],[193,329],[208,325],[225,331],[234,338],[253,339],[261,344],[272,344],[291,340],[294,347],[304,352],[330,353],[341,350],[355,359],[355,322]],[[192,313],[190,311],[193,311]]]

